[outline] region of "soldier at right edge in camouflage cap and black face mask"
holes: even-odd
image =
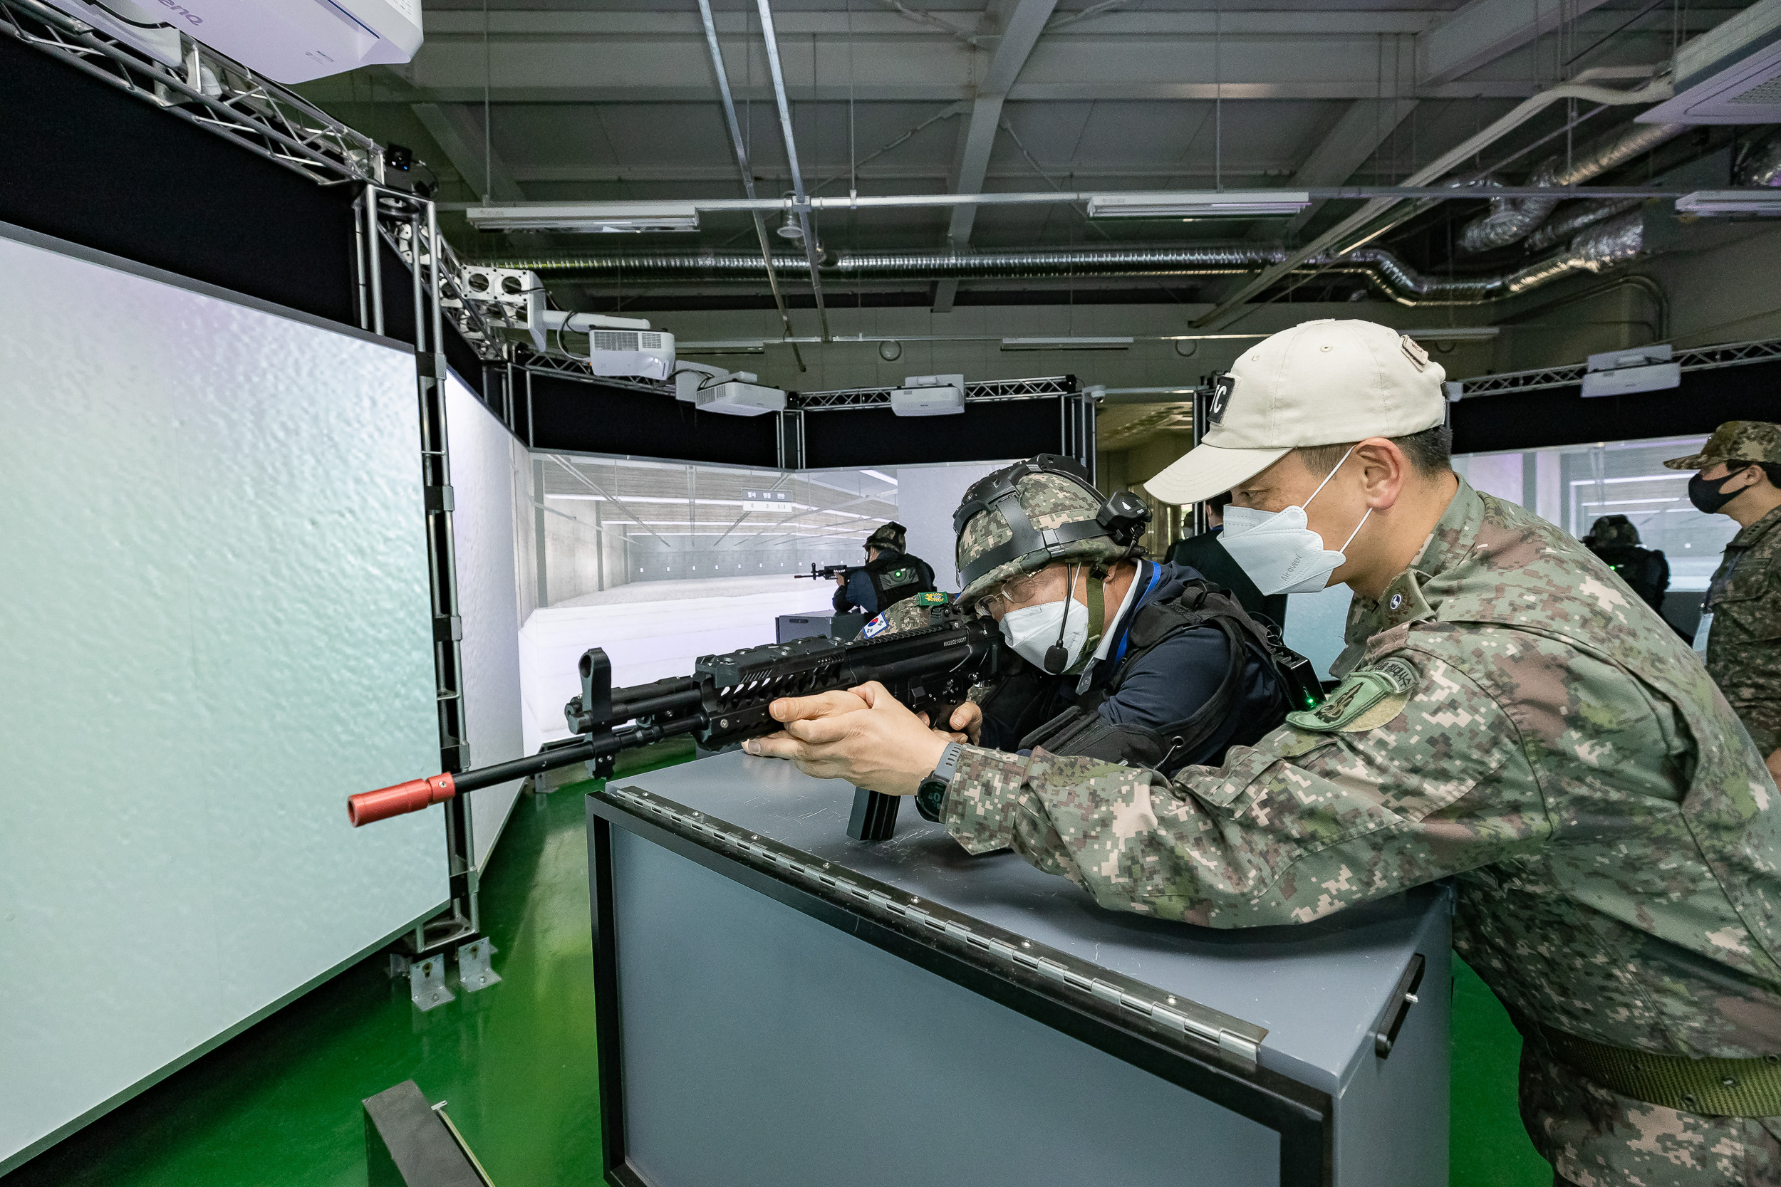
[[[1728,420],[1699,454],[1663,464],[1699,470],[1688,502],[1738,521],[1706,587],[1694,650],[1781,779],[1781,425]]]

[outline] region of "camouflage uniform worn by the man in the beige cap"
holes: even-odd
[[[1209,927],[1455,876],[1455,947],[1532,1034],[1525,1116],[1560,1175],[1781,1185],[1774,1123],[1619,1096],[1537,1029],[1781,1052],[1781,801],[1687,644],[1578,541],[1462,482],[1414,566],[1355,596],[1336,669],[1329,710],[1174,783],[964,747],[944,820],[1106,908]]]

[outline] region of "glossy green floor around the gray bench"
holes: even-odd
[[[620,774],[691,758],[620,756]],[[600,1183],[582,792],[520,795],[483,881],[502,982],[426,1014],[383,956],[39,1155],[0,1187],[363,1187],[360,1100],[413,1078],[499,1187]],[[1521,1036],[1453,963],[1452,1187],[1549,1187],[1516,1114]]]

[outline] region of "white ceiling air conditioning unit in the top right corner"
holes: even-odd
[[[1781,0],[1758,0],[1676,50],[1676,98],[1639,123],[1781,121]]]

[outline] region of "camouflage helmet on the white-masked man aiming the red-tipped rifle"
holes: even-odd
[[[953,513],[958,605],[1053,561],[1111,564],[1134,557],[1151,509],[1131,491],[1102,498],[1069,457],[1040,454],[978,479]]]

